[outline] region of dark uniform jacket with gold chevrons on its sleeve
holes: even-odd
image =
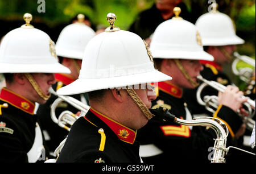
[[[152,109],[159,106],[166,107],[177,118],[188,119],[190,112],[186,109],[187,105],[182,97],[182,89],[168,81],[158,82],[156,94],[158,97],[152,102]],[[225,114],[223,115],[225,109],[225,107],[221,107],[216,113],[216,118],[226,119]],[[141,154],[144,162],[209,163],[214,138],[216,138],[216,134],[212,129],[205,129],[202,126],[193,126],[190,129],[188,126],[159,121],[157,117],[153,117],[146,126],[138,130],[137,140],[142,145],[154,144],[162,151],[162,153],[152,156]]]

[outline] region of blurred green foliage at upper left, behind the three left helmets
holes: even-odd
[[[33,20],[43,20],[49,26],[69,22],[78,13],[88,15],[94,24],[106,22],[106,14],[117,15],[117,26],[126,30],[135,16],[149,8],[154,0],[45,0],[46,13],[38,13],[38,1],[0,0],[0,19],[22,19],[24,13],[31,13]]]

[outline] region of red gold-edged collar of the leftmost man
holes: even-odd
[[[14,107],[23,110],[24,112],[34,115],[35,104],[26,98],[12,92],[9,89],[3,88],[0,94],[1,100],[10,103]]]

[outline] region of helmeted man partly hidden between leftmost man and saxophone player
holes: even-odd
[[[69,68],[71,73],[56,73],[55,78],[57,82],[52,86],[53,90],[69,85],[79,77],[84,49],[89,40],[95,36],[92,28],[85,25],[84,18],[85,16],[83,14],[77,15],[77,22],[69,24],[60,32],[56,42],[56,55],[59,58],[59,62]],[[72,95],[71,97],[76,98],[86,105],[89,104],[86,93]],[[52,95],[47,103],[39,106],[36,113],[42,123],[42,129],[46,134],[46,142],[51,152],[55,151],[60,142],[68,134],[67,130],[59,127],[51,119],[51,105],[56,99],[57,97]],[[68,103],[61,102],[56,108],[56,115],[59,116],[64,110],[69,110],[75,114],[79,111]]]

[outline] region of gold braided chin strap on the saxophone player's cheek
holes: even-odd
[[[126,88],[127,93],[133,99],[133,101],[136,103],[137,106],[139,106],[139,109],[141,109],[142,113],[145,115],[147,119],[151,119],[155,115],[150,112],[150,110],[147,109],[147,106],[142,102],[141,98],[137,95],[135,90]]]

